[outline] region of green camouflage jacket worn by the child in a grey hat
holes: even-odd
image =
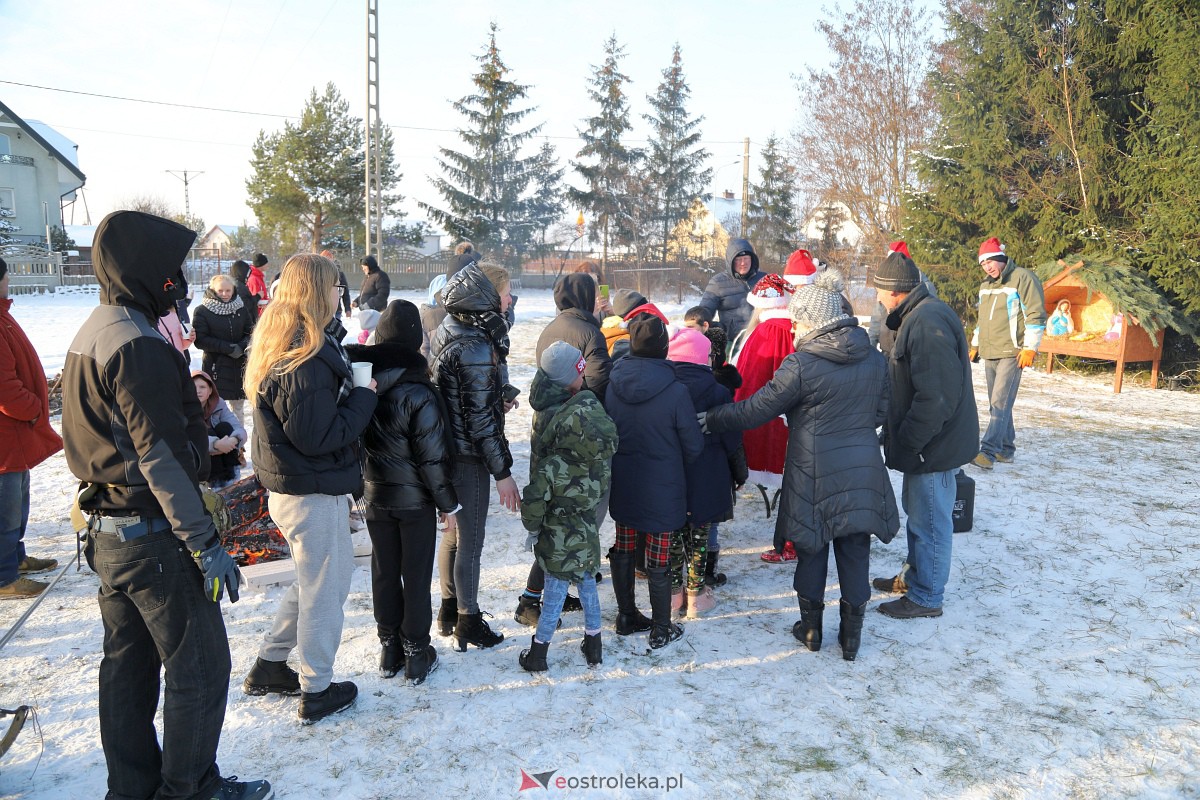
[[[600,566],[596,505],[608,488],[617,426],[588,390],[565,398],[552,415],[538,410],[550,421],[544,428],[535,423],[541,429],[530,441],[521,521],[538,535],[534,555],[548,575],[582,581]]]

